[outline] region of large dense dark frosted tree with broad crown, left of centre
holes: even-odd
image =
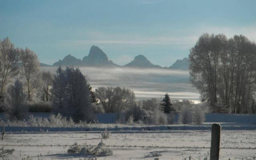
[[[71,116],[76,122],[94,118],[90,90],[86,77],[79,68],[59,67],[54,74],[52,97],[55,112]]]

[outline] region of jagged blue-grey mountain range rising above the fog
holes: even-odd
[[[40,64],[41,66],[50,66],[47,64]],[[162,67],[152,64],[145,56],[138,55],[130,63],[120,66],[108,59],[108,56],[97,46],[92,46],[88,56],[78,59],[70,54],[65,56],[62,60],[55,62],[52,66],[91,66],[91,67],[129,67],[129,68],[162,68],[162,69],[176,69],[188,70],[188,58],[176,60],[174,64],[169,67]]]

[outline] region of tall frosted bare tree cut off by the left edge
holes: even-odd
[[[19,54],[9,38],[0,41],[0,99],[3,98],[6,84],[18,74]]]

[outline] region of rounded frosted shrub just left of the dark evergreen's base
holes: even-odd
[[[150,115],[151,124],[168,124],[167,115],[159,109],[155,109]]]

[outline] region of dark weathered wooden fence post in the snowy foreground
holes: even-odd
[[[219,160],[220,156],[220,124],[212,124],[212,141],[210,150],[210,160]]]

